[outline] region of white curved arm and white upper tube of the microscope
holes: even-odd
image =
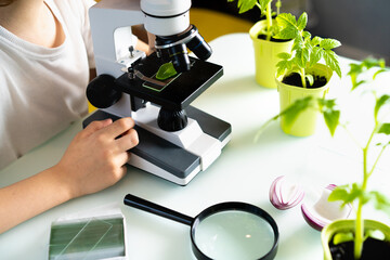
[[[122,64],[115,50],[120,34],[129,35],[131,26],[144,24],[155,36],[180,35],[190,26],[190,0],[103,0],[93,5],[89,16],[98,75],[120,76]]]

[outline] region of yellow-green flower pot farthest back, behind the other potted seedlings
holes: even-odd
[[[260,21],[249,30],[255,48],[256,81],[262,87],[276,89],[276,64],[281,61],[277,54],[281,52],[289,53],[292,48],[292,40],[275,42],[258,39],[259,31],[265,28],[265,26],[266,21]]]

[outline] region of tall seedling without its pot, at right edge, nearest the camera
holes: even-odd
[[[352,89],[351,91],[363,86],[366,80],[362,80],[361,76],[368,69],[377,68],[376,73],[373,76],[373,81],[375,78],[384,73],[388,72],[385,66],[384,60],[366,58],[360,64],[350,64],[350,70],[348,75],[351,77]],[[358,146],[362,152],[363,157],[363,176],[362,182],[355,182],[352,184],[337,186],[329,195],[329,202],[341,200],[342,206],[348,204],[358,204],[356,207],[356,221],[354,233],[339,233],[335,236],[334,244],[354,240],[354,258],[360,259],[363,249],[363,243],[368,237],[372,236],[372,233],[364,234],[364,219],[362,216],[363,206],[367,203],[374,203],[375,207],[378,210],[384,210],[390,214],[390,200],[384,194],[378,191],[367,191],[368,179],[374,173],[374,170],[384,154],[385,150],[390,146],[390,122],[384,122],[381,119],[390,115],[390,95],[382,94],[380,96],[373,90],[369,91],[375,98],[375,107],[373,112],[374,127],[369,132],[367,141],[365,144],[360,144],[356,142]],[[287,123],[294,123],[298,115],[306,109],[317,109],[323,114],[326,126],[332,135],[335,134],[335,131],[338,126],[344,128],[347,132],[351,135],[352,140],[356,140],[352,132],[348,129],[347,123],[340,122],[340,110],[337,108],[336,100],[325,100],[325,99],[315,99],[308,96],[301,100],[297,100],[285,110],[281,112],[278,115],[271,118],[266,121],[260,131],[258,132],[256,139],[259,138],[262,130],[273,120],[276,120],[281,116],[284,116]],[[374,157],[374,161],[370,166],[368,165],[368,156],[370,148],[374,146],[375,138],[382,135],[381,138],[387,138],[387,142],[377,143],[376,145],[380,147],[379,153]],[[374,155],[373,155],[374,156]],[[375,233],[375,232],[374,232]]]

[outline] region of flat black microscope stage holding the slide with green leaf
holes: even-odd
[[[192,63],[190,72],[180,73],[167,86],[159,89],[145,87],[146,83],[151,83],[140,78],[129,79],[128,74],[123,74],[115,82],[119,91],[150,101],[166,109],[181,110],[223,75],[223,68],[220,65],[194,57],[190,60]],[[134,69],[148,78],[154,78],[162,64],[156,53],[153,53]]]

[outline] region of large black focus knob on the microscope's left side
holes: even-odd
[[[115,78],[107,74],[99,75],[87,87],[87,99],[95,107],[107,108],[121,98],[115,89]]]

